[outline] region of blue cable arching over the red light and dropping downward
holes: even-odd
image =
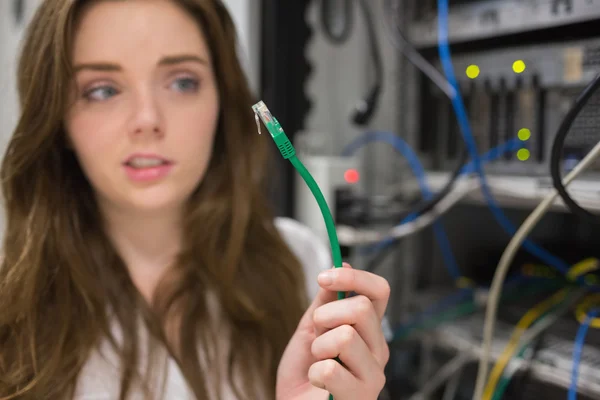
[[[364,145],[366,143],[369,143],[370,141],[380,141],[388,143],[390,146],[392,146],[408,161],[410,169],[417,178],[417,182],[419,183],[419,188],[421,189],[423,198],[429,200],[433,197],[433,193],[427,185],[425,169],[423,168],[419,157],[408,145],[408,143],[402,140],[399,136],[396,136],[389,132],[368,132],[363,137],[368,138],[368,140],[357,141],[355,143]],[[350,155],[360,147],[353,144],[354,143],[348,146],[342,154]],[[433,231],[440,246],[440,251],[442,253],[444,263],[448,268],[450,276],[452,276],[452,278],[454,278],[455,280],[459,279],[461,277],[461,273],[456,263],[456,259],[454,258],[454,254],[452,252],[448,236],[446,235],[446,232],[444,231],[444,228],[440,222],[434,222]]]

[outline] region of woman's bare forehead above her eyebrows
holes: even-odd
[[[150,61],[193,53],[209,59],[204,35],[190,14],[171,0],[93,1],[75,31],[74,61]]]

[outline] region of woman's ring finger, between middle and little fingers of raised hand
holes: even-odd
[[[313,341],[312,355],[317,360],[339,357],[344,366],[359,380],[370,382],[383,368],[365,341],[350,325],[338,326]]]

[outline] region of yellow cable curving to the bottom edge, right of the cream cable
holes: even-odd
[[[506,365],[508,365],[509,361],[513,358],[513,354],[517,351],[517,347],[519,346],[519,342],[523,333],[525,333],[527,329],[529,329],[531,324],[533,324],[542,315],[548,312],[548,310],[556,306],[558,303],[562,302],[568,293],[568,289],[559,290],[550,298],[536,304],[532,309],[527,311],[527,313],[525,313],[525,315],[519,320],[515,330],[513,331],[510,337],[508,344],[504,348],[504,351],[498,358],[496,365],[494,365],[494,368],[490,373],[489,380],[487,382],[487,385],[485,386],[485,391],[483,392],[482,400],[492,400],[494,391],[496,390],[496,385],[502,377],[504,368],[506,368]]]

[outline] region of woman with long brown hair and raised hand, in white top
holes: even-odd
[[[326,269],[307,309],[319,245],[268,211],[235,49],[217,0],[42,1],[1,172],[1,398],[377,398],[389,287]]]

